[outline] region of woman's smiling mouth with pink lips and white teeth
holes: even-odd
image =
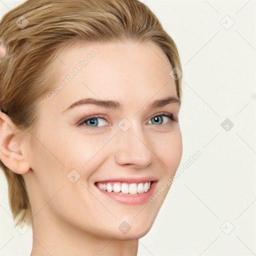
[[[98,181],[97,189],[118,202],[142,204],[153,194],[158,180],[145,182]]]

